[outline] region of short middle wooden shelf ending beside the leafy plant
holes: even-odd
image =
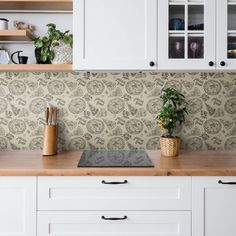
[[[0,30],[0,41],[33,41],[35,36],[29,30]]]

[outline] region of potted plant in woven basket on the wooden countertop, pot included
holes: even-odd
[[[185,96],[174,88],[162,89],[162,107],[156,117],[157,124],[161,128],[160,137],[161,154],[163,156],[178,156],[181,140],[174,136],[178,125],[185,121],[187,113],[187,101]]]

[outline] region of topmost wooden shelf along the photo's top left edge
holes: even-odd
[[[0,0],[0,11],[72,11],[73,0]]]

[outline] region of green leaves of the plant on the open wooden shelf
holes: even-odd
[[[44,37],[36,38],[34,41],[34,46],[40,50],[40,57],[37,61],[42,63],[51,62],[55,55],[53,52],[53,47],[58,47],[59,41],[63,40],[65,44],[68,44],[73,47],[73,35],[69,33],[69,30],[61,32],[56,28],[55,24],[47,24],[48,30]]]

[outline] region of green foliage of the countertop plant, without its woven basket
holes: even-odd
[[[157,124],[163,132],[162,137],[174,138],[174,130],[185,121],[185,115],[188,114],[187,101],[185,96],[174,88],[162,89],[160,98],[163,103],[156,117]]]

